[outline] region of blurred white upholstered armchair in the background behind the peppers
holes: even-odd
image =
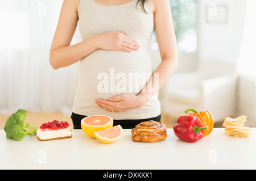
[[[236,65],[226,61],[200,61],[195,72],[174,74],[162,91],[162,112],[172,118],[185,110],[209,110],[214,122],[233,116],[236,96]]]

